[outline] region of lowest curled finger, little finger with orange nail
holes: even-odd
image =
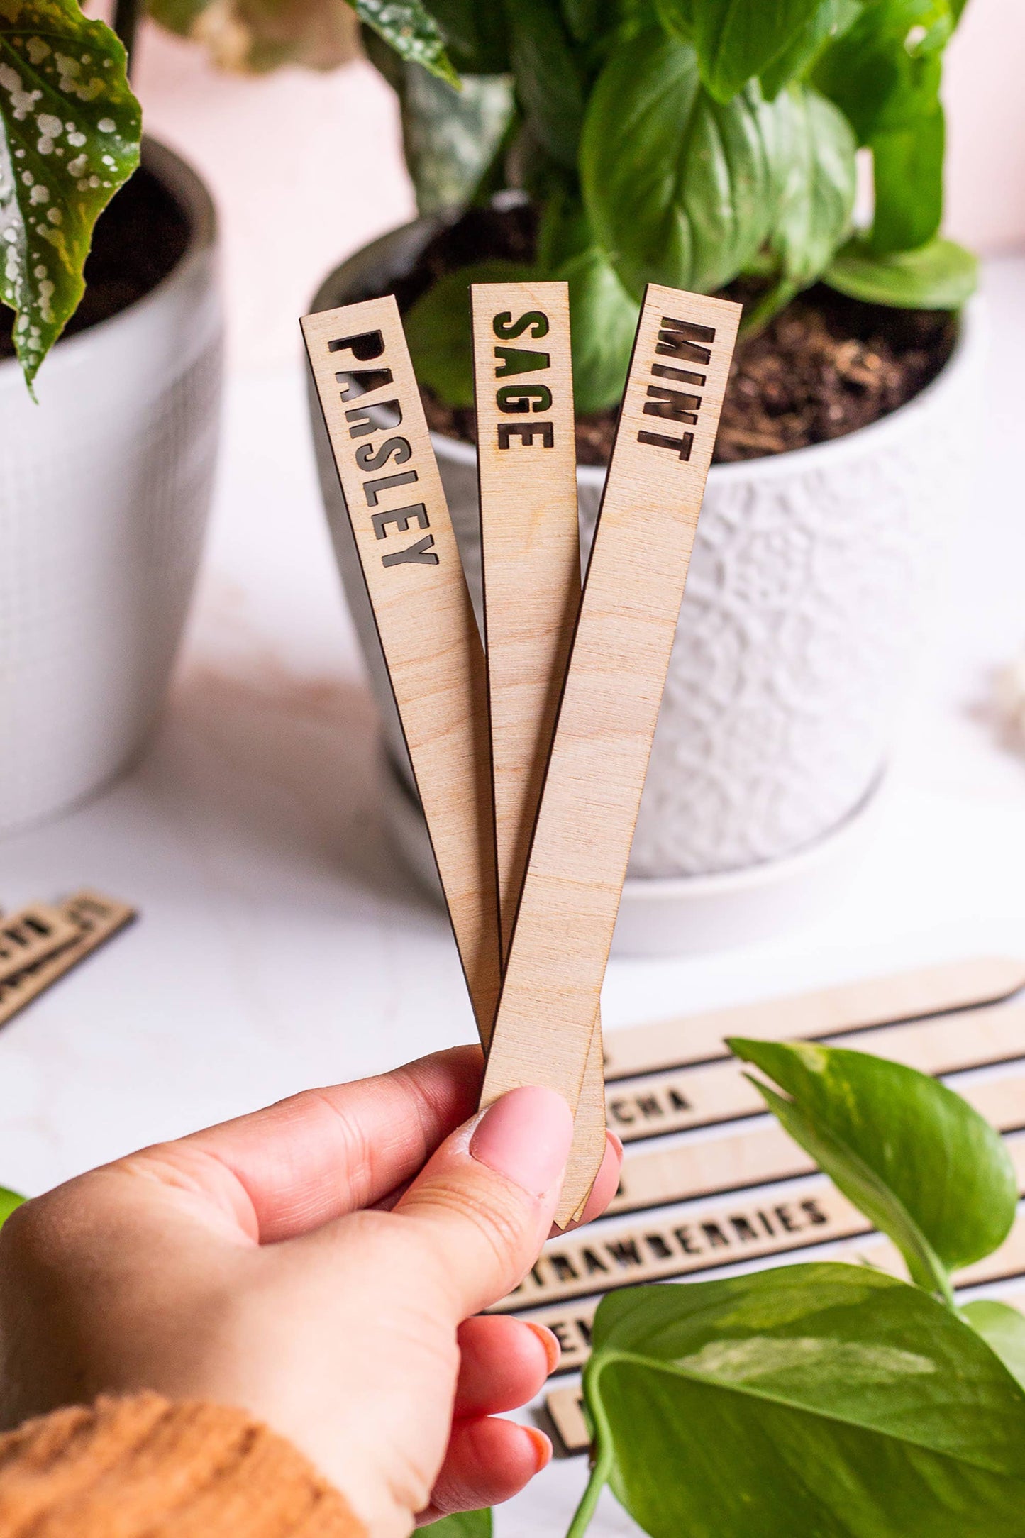
[[[452,1512],[499,1506],[522,1490],[552,1460],[552,1443],[533,1426],[515,1421],[472,1420],[452,1427],[449,1450],[416,1526],[436,1523]]]

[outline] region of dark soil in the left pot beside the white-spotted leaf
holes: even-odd
[[[157,288],[189,245],[184,209],[152,172],[140,169],[97,220],[86,258],[86,292],[65,335],[86,331]],[[14,355],[14,312],[0,305],[0,357]]]

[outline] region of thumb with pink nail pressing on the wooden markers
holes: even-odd
[[[441,1144],[395,1206],[444,1278],[455,1323],[504,1298],[533,1266],[572,1143],[561,1095],[510,1089]]]

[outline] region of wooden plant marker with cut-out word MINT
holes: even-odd
[[[659,285],[644,297],[484,1104],[538,1083],[579,1100],[739,315]],[[567,1178],[559,1224],[582,1195]]]

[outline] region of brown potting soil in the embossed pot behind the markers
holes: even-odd
[[[443,274],[487,258],[530,261],[536,218],[527,205],[470,209],[441,231],[413,271],[395,285],[409,309]],[[728,291],[731,298],[742,292]],[[753,460],[842,438],[896,411],[936,378],[956,340],[947,311],[887,309],[824,285],[793,300],[756,337],[738,343],[730,369],[716,461]],[[473,443],[475,414],[421,392],[427,421]],[[581,464],[607,464],[616,409],[576,420]]]

